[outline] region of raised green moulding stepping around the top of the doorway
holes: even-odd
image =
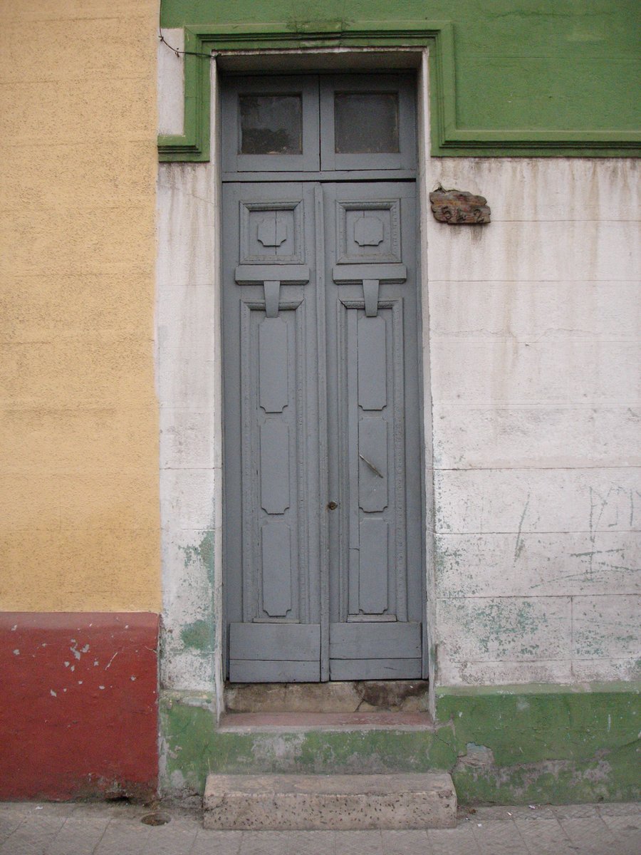
[[[429,47],[433,156],[631,156],[641,150],[637,131],[458,127],[450,21],[359,21],[354,27],[343,21],[322,32],[300,23],[185,27],[185,50],[196,53],[312,47]],[[209,65],[209,57],[185,56],[185,132],[158,138],[161,161],[209,160]]]

